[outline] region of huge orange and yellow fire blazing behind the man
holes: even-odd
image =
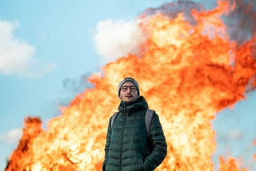
[[[193,24],[182,13],[171,19],[143,14],[141,56],[119,58],[91,75],[94,88],[75,97],[46,130],[38,117],[27,117],[6,171],[101,170],[107,124],[119,103],[117,85],[128,76],[138,80],[165,131],[168,154],[157,170],[214,170],[211,121],[256,87],[256,35],[232,41],[221,18],[236,6],[219,1],[214,10],[192,10]],[[234,157],[219,161],[221,171],[246,170]]]

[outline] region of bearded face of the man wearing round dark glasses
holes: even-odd
[[[132,82],[125,82],[120,90],[119,98],[124,102],[132,102],[138,98],[136,86]]]

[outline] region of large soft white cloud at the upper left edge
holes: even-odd
[[[34,58],[34,46],[14,37],[18,22],[0,21],[0,74],[40,77],[53,70]]]

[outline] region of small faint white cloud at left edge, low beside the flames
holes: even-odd
[[[14,143],[14,142],[18,142],[21,137],[22,137],[22,128],[12,129],[7,133],[0,134],[0,141]]]

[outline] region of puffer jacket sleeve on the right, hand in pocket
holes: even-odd
[[[150,125],[149,143],[151,153],[146,157],[144,164],[147,169],[154,170],[162,163],[167,154],[166,137],[156,113],[154,113]]]

